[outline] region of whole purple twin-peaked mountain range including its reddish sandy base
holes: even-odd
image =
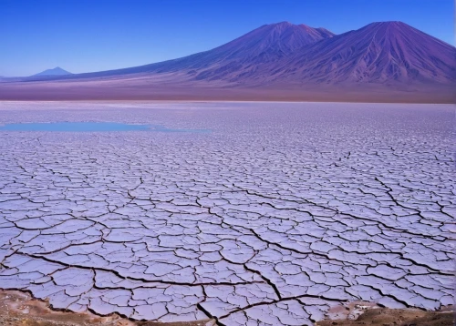
[[[456,48],[405,23],[335,35],[288,22],[144,66],[0,81],[0,99],[456,101]],[[39,89],[39,91],[38,91]],[[28,93],[27,93],[28,92]],[[30,95],[30,96],[29,96]]]

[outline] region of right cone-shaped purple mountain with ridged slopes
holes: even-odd
[[[272,79],[453,83],[456,48],[404,23],[373,23],[302,49],[279,66]]]

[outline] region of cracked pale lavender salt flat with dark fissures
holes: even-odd
[[[0,288],[135,320],[453,303],[454,107],[0,102]]]

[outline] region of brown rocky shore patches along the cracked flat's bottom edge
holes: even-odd
[[[440,311],[418,309],[380,308],[375,303],[349,303],[339,311],[330,312],[326,321],[316,321],[316,326],[340,325],[426,325],[451,326],[454,324],[454,306]],[[342,318],[341,318],[342,317]],[[53,310],[47,301],[34,299],[30,293],[20,290],[0,290],[0,325],[16,326],[214,326],[213,320],[193,322],[132,321],[118,314],[98,316],[90,311],[77,313]]]

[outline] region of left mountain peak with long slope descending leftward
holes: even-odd
[[[257,66],[276,62],[296,50],[334,36],[325,28],[282,22],[263,25],[212,50],[145,66],[78,74],[70,78],[126,76],[184,72],[188,78],[233,79],[236,73],[255,71]],[[233,74],[233,76],[230,76]]]

